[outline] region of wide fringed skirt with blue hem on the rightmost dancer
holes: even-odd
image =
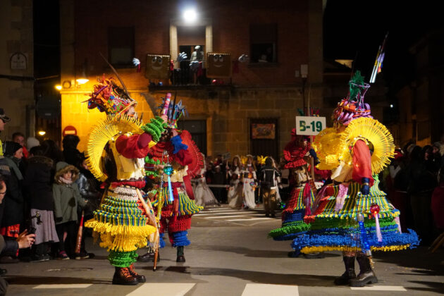
[[[357,214],[364,216],[366,238],[372,251],[395,251],[419,244],[413,230],[401,233],[400,211],[388,204],[386,193],[378,189],[378,180],[370,188],[369,195],[362,195],[360,189],[359,183],[326,187],[323,195],[316,197],[315,203],[319,206],[314,214],[305,217],[305,221],[311,224],[310,230],[297,236],[292,247],[300,249],[302,253],[362,250]],[[376,235],[375,218],[370,213],[370,206],[374,203],[380,207],[381,242]]]

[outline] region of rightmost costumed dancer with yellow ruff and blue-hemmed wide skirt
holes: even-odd
[[[330,168],[332,185],[316,196],[309,232],[293,241],[301,252],[343,251],[345,273],[336,285],[377,283],[371,251],[395,251],[419,243],[413,230],[402,233],[400,212],[378,188],[377,174],[390,163],[395,146],[387,128],[370,115],[364,94],[369,85],[359,71],[349,82],[350,94],[333,112],[333,128],[316,136],[320,168]],[[354,272],[354,259],[360,272]]]

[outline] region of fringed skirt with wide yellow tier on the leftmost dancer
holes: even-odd
[[[156,232],[154,226],[147,225],[136,190],[124,186],[107,190],[99,209],[94,211],[94,218],[85,222],[85,227],[99,234],[100,247],[106,247],[113,257],[146,247],[147,238]]]

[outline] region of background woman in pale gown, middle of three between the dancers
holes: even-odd
[[[240,156],[235,155],[230,168],[227,170],[227,177],[230,178],[230,185],[228,186],[228,206],[233,209],[242,208],[242,182],[240,182],[242,164]]]

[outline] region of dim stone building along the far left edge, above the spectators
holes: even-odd
[[[35,135],[32,0],[0,1],[0,107],[11,121],[1,140],[13,132]]]

